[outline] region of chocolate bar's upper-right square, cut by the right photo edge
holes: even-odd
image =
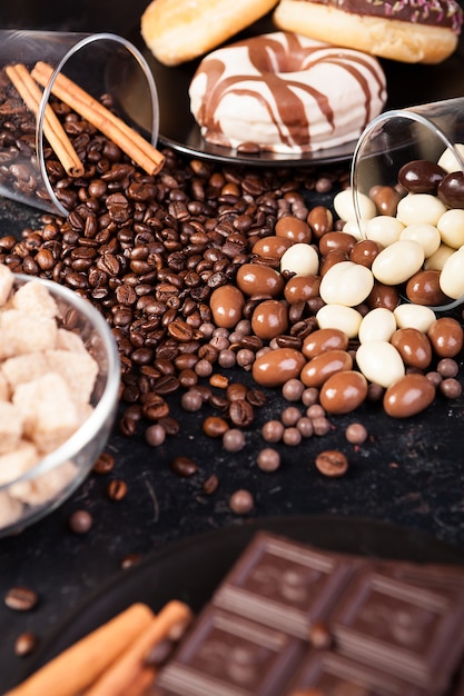
[[[458,600],[457,600],[458,599]],[[330,618],[337,650],[436,693],[464,647],[464,595],[419,587],[391,574],[356,575]]]

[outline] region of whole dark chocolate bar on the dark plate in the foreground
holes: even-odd
[[[150,694],[461,696],[463,627],[464,567],[334,554],[263,531]]]

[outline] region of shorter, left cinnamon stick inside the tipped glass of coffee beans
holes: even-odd
[[[7,66],[6,72],[28,109],[30,109],[37,117],[42,93],[26,66],[21,63]],[[60,160],[65,171],[70,177],[82,176],[85,171],[83,165],[49,105],[47,105],[45,111],[43,133],[49,141],[50,147]]]

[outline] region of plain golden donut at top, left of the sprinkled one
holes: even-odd
[[[269,12],[277,0],[152,0],[140,31],[155,58],[177,66],[203,56]]]

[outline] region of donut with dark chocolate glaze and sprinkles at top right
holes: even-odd
[[[275,24],[319,41],[409,63],[438,63],[457,46],[456,0],[280,0]]]

